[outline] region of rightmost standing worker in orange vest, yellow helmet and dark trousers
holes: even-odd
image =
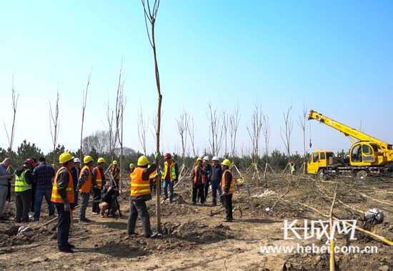
[[[222,193],[224,194],[224,205],[225,205],[225,213],[227,213],[227,217],[224,218],[224,222],[232,222],[234,219],[232,216],[232,195],[234,193],[234,177],[232,175],[232,171],[229,169],[231,166],[231,162],[228,159],[225,159],[221,163],[222,166],[222,180],[221,180],[221,188]]]

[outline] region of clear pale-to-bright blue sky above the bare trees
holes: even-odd
[[[141,150],[139,103],[151,120],[157,99],[140,1],[1,1],[0,35],[1,116],[9,129],[13,75],[20,95],[14,150],[24,139],[44,153],[51,149],[49,101],[57,86],[59,143],[79,148],[82,90],[91,68],[84,136],[105,129],[121,58],[124,145]],[[164,151],[180,150],[175,118],[183,108],[196,121],[199,154],[209,148],[209,101],[227,112],[239,104],[239,152],[250,150],[246,126],[255,103],[269,116],[271,150],[284,150],[282,113],[292,104],[291,148],[302,153],[297,120],[303,103],[348,126],[362,123],[365,133],[393,143],[392,1],[161,0],[156,46]],[[351,145],[317,121],[311,129],[311,150]],[[150,153],[150,132],[147,139]],[[7,145],[1,125],[0,146]]]

